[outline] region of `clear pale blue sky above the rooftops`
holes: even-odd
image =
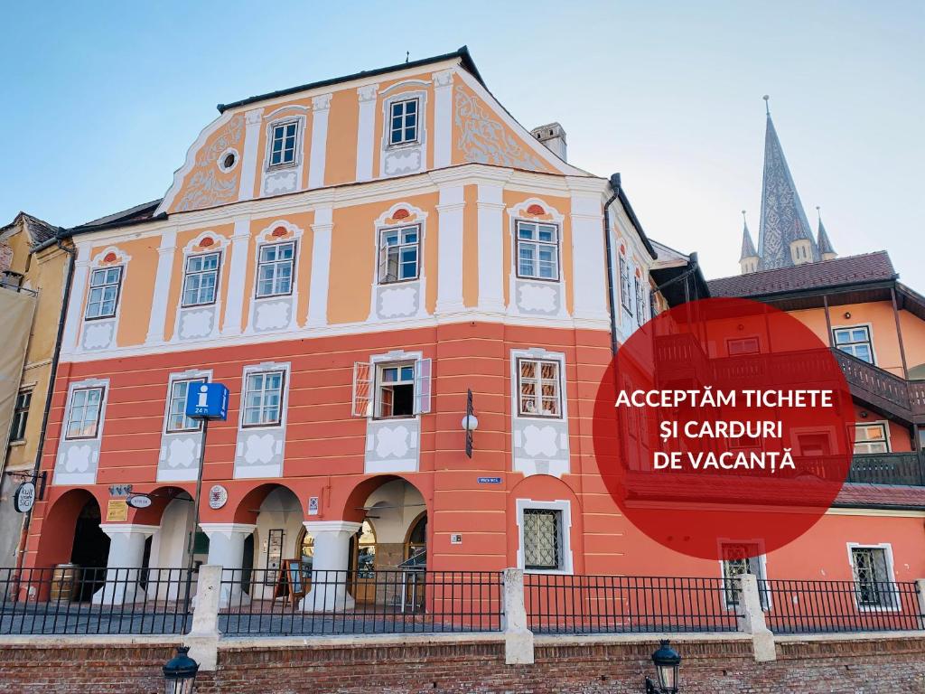
[[[215,105],[468,44],[489,89],[623,183],[648,234],[738,271],[764,103],[815,225],[925,291],[922,2],[8,4],[0,222],[72,226],[166,192]]]

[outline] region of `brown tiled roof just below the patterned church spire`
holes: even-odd
[[[711,296],[768,296],[793,291],[882,282],[896,279],[886,251],[778,267],[708,282]]]

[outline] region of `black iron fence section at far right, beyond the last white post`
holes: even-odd
[[[916,584],[759,580],[765,621],[779,634],[925,629]]]

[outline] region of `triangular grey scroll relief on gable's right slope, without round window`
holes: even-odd
[[[490,118],[477,97],[457,86],[453,98],[456,109],[456,126],[459,142],[466,161],[477,164],[494,164],[501,167],[546,170],[535,155],[524,146],[498,120]]]

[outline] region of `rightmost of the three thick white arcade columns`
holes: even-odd
[[[349,521],[305,521],[305,530],[314,538],[312,589],[299,609],[305,612],[343,612],[353,607],[347,592],[350,565],[350,539],[362,527]]]

